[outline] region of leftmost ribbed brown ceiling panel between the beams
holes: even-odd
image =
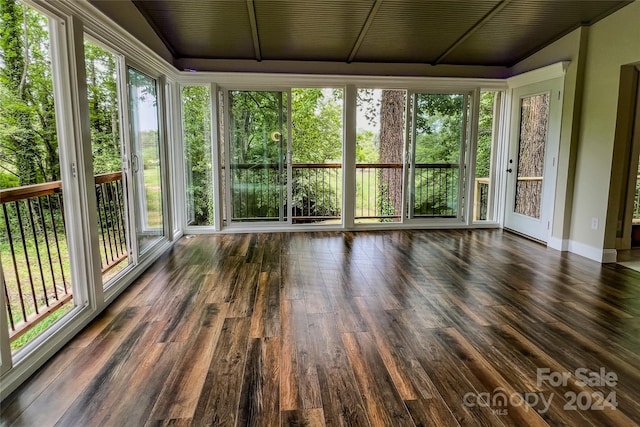
[[[255,58],[244,1],[136,1],[177,57]]]

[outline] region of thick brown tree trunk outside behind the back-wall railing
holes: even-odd
[[[380,104],[380,163],[402,165],[405,92],[383,90]],[[402,168],[384,168],[378,184],[381,215],[402,212]]]

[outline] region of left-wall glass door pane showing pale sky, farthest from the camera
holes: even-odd
[[[131,167],[139,253],[164,236],[158,95],[155,79],[128,69]]]

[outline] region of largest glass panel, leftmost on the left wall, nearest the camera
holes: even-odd
[[[75,307],[49,55],[49,19],[4,2],[0,46],[0,258],[11,350]],[[62,165],[64,166],[64,165]]]

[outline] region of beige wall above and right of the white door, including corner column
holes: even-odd
[[[558,182],[549,246],[598,261],[605,247],[620,68],[640,62],[640,1],[577,29],[510,68],[516,75],[569,60],[565,75]],[[617,166],[614,165],[613,168]],[[615,169],[613,169],[615,171]],[[598,227],[592,229],[592,219]],[[615,256],[615,252],[614,252]]]

